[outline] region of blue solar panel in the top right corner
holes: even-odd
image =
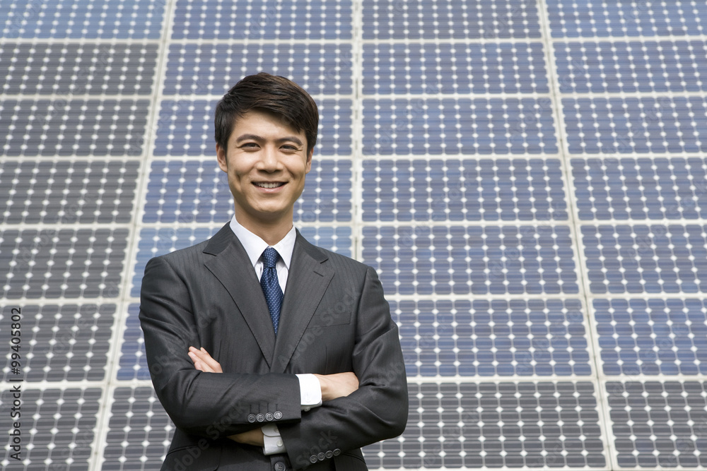
[[[703,1],[547,0],[552,37],[702,35]]]

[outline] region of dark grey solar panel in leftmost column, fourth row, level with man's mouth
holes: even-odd
[[[0,161],[1,222],[130,222],[139,162]]]

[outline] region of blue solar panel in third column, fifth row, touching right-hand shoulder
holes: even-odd
[[[363,227],[387,294],[577,293],[566,226]]]

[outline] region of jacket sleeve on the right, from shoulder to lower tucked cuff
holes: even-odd
[[[402,434],[408,395],[398,329],[373,268],[363,281],[352,354],[358,390],[303,412],[300,422],[278,424],[295,469],[341,451]],[[330,453],[327,453],[330,452]]]

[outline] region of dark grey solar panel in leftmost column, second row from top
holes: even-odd
[[[0,44],[2,92],[152,93],[156,44]]]

